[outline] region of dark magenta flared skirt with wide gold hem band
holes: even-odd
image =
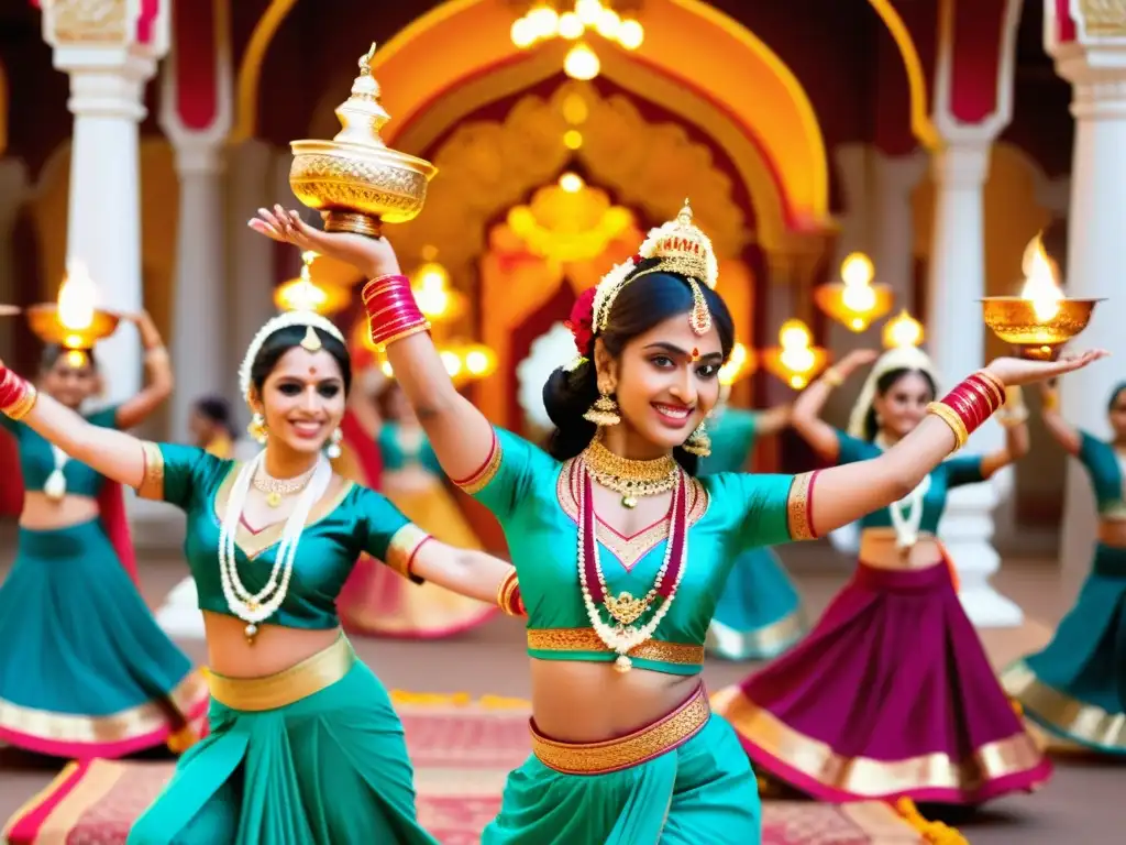
[[[822,801],[975,804],[1052,773],[941,563],[861,562],[803,642],[713,703],[761,773]]]

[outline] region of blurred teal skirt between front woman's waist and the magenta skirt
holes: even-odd
[[[751,549],[736,558],[704,647],[725,660],[768,660],[806,633],[797,589],[778,555]]]

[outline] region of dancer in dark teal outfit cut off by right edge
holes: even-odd
[[[1091,479],[1099,533],[1091,572],[1047,648],[1001,676],[1024,713],[1087,748],[1126,755],[1126,383],[1107,407],[1110,441],[1071,426],[1052,388],[1042,415],[1048,432]]]

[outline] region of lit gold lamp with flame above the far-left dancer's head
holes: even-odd
[[[59,302],[32,305],[27,322],[43,343],[61,346],[73,366],[82,366],[87,353],[113,335],[120,322],[117,314],[96,308],[97,299],[98,288],[86,267],[71,261],[59,287]]]

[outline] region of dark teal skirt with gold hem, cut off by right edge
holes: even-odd
[[[1001,682],[1048,732],[1126,755],[1126,549],[1098,544],[1052,642],[1009,667]]]

